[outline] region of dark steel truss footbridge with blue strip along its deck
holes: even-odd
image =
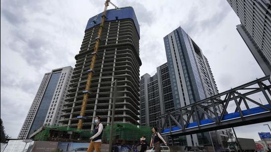
[[[268,122],[270,98],[271,80],[266,76],[161,115],[160,132],[162,136],[188,135]]]

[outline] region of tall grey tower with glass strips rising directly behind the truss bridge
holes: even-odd
[[[218,94],[207,59],[181,27],[165,36],[164,43],[175,109]],[[211,144],[208,133],[187,135],[186,139],[177,140],[186,140],[188,146]]]

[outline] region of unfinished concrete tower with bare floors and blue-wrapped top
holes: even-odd
[[[106,15],[103,12],[89,19],[79,54],[75,56],[76,64],[63,108],[63,126],[94,130],[95,116],[101,117],[102,124],[110,124],[112,82],[116,79],[118,96],[114,122],[139,125],[139,25],[132,7],[107,12],[106,7]],[[99,49],[95,51],[97,41],[100,45],[98,43]],[[90,66],[94,65],[92,62],[94,68]],[[88,82],[90,89],[87,90],[90,73],[91,84]],[[85,98],[86,93],[88,97]],[[79,121],[83,122],[81,126]]]

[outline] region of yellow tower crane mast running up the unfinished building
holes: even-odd
[[[94,75],[94,66],[95,66],[95,62],[96,62],[96,58],[97,58],[97,53],[99,50],[99,45],[100,45],[100,41],[101,41],[101,36],[102,36],[102,28],[103,28],[103,24],[105,21],[105,15],[106,15],[106,10],[107,10],[107,6],[110,4],[112,4],[116,9],[118,8],[116,5],[114,5],[110,0],[106,0],[104,2],[104,9],[103,9],[103,13],[102,13],[102,21],[99,27],[99,31],[98,31],[98,37],[96,38],[96,42],[95,42],[95,47],[94,47],[94,52],[92,53],[92,60],[91,60],[91,64],[90,64],[90,69],[89,69],[89,74],[88,74],[88,79],[87,79],[87,85],[85,88],[84,92],[84,97],[83,97],[83,102],[82,102],[82,106],[81,106],[81,111],[80,111],[80,116],[78,116],[77,118],[79,118],[79,122],[77,124],[77,129],[82,129],[83,126],[83,118],[85,118],[85,111],[86,111],[86,107],[87,107],[87,100],[88,100],[88,96],[89,96],[89,92],[90,92],[90,85],[91,85],[91,79]]]

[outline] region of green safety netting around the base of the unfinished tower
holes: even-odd
[[[102,142],[109,143],[110,137],[110,127],[111,125],[105,126],[103,129]],[[76,135],[76,139],[80,138],[83,141],[88,141],[90,137],[94,135],[94,131],[87,131],[72,127],[63,126],[44,126],[42,130],[34,135],[34,140],[38,141],[50,141],[52,134],[57,134],[56,132],[68,132],[71,131]],[[149,143],[151,139],[151,127],[149,126],[139,126],[128,123],[116,123],[113,125],[113,143],[136,143],[142,137],[146,136],[146,140]],[[56,137],[56,136],[54,136]],[[74,136],[75,137],[75,136]]]

